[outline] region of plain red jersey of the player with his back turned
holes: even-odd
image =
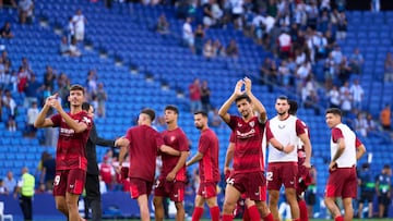
[[[156,157],[164,139],[153,127],[140,125],[129,128],[126,138],[130,142],[130,177],[154,182]]]

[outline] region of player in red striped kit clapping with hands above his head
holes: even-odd
[[[243,86],[245,90],[241,89]],[[228,113],[233,102],[241,116]],[[258,115],[254,115],[254,110]],[[233,213],[241,194],[245,194],[251,220],[259,221],[260,212],[263,220],[273,220],[265,202],[266,180],[262,151],[266,111],[251,91],[251,79],[245,77],[237,82],[234,93],[221,107],[218,114],[235,133],[234,171],[227,179],[223,221],[234,219]],[[285,148],[281,144],[276,146]]]

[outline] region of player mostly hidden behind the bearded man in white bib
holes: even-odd
[[[295,115],[297,113],[298,110],[298,105],[295,100],[288,100],[289,103],[289,110],[288,113],[290,115]],[[300,120],[300,119],[299,119]],[[310,139],[310,133],[309,133],[309,128],[307,126],[307,124],[301,121],[301,124],[305,126],[305,133],[307,134],[307,136]],[[310,185],[311,183],[311,174],[310,174],[310,168],[306,168],[303,165],[305,161],[306,161],[306,151],[305,151],[305,145],[301,142],[301,139],[298,140],[298,145],[297,145],[297,155],[298,155],[298,185],[296,187],[296,197],[297,197],[297,201],[299,205],[299,216],[300,216],[300,221],[308,221],[308,210],[307,210],[307,204],[305,201],[305,192],[307,189],[307,187]]]

